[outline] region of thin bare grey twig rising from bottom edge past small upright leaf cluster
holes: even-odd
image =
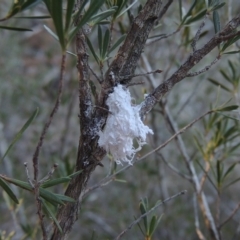
[[[156,208],[158,208],[159,206],[163,205],[164,203],[180,196],[183,195],[187,192],[187,190],[183,190],[165,200],[163,200],[162,202],[156,204],[153,208],[151,208],[149,211],[147,211],[146,213],[142,214],[139,218],[137,218],[135,221],[133,221],[126,229],[124,229],[116,238],[115,240],[119,240],[128,230],[130,230],[134,225],[136,225],[137,223],[139,223],[144,217],[146,217],[149,213],[151,213],[152,211],[154,211]]]

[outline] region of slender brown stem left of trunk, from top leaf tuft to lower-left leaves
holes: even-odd
[[[34,181],[37,182],[38,180],[38,156],[39,156],[39,152],[41,150],[41,147],[43,145],[43,140],[45,138],[45,135],[47,133],[47,130],[52,122],[52,119],[53,119],[53,116],[55,115],[55,113],[57,112],[58,110],[58,107],[59,107],[59,104],[60,104],[60,101],[61,101],[61,96],[62,96],[62,87],[63,87],[63,76],[64,76],[64,71],[65,71],[65,61],[66,61],[66,55],[63,54],[62,55],[62,61],[61,61],[61,70],[60,70],[60,78],[59,78],[59,85],[58,85],[58,95],[57,95],[57,100],[55,102],[55,105],[53,107],[53,110],[52,112],[50,113],[50,116],[47,120],[47,122],[45,123],[44,125],[44,128],[42,130],[42,133],[41,133],[41,136],[40,136],[40,139],[38,141],[38,144],[37,144],[37,148],[34,152],[34,155],[33,155],[33,170],[34,170]]]

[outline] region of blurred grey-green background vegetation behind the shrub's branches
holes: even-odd
[[[128,1],[128,5],[133,1]],[[166,3],[166,1],[163,1]],[[199,12],[205,1],[199,3],[194,11]],[[113,41],[129,30],[132,17],[136,16],[141,4],[137,1],[130,11],[122,15],[113,26]],[[189,9],[192,1],[182,1],[183,13]],[[0,2],[0,18],[5,16],[11,1]],[[221,24],[225,23],[240,11],[238,1],[227,1],[219,9]],[[39,4],[21,13],[19,16],[48,15],[44,4]],[[18,15],[17,15],[18,16]],[[174,32],[179,23],[179,3],[174,1],[160,24],[151,36]],[[139,77],[137,81],[144,84],[130,87],[136,103],[143,100],[144,94],[171,76],[191,52],[191,39],[194,37],[201,21],[186,25],[172,37],[151,43],[149,39],[139,62],[136,73],[160,69],[161,74]],[[56,94],[61,61],[61,49],[56,40],[44,29],[52,29],[51,19],[12,18],[8,26],[30,28],[31,32],[18,32],[0,29],[0,155],[6,151],[15,134],[26,120],[39,108],[39,114],[21,139],[14,145],[7,157],[1,162],[1,174],[27,181],[24,162],[32,165],[32,155],[36,148],[43,124],[52,109]],[[102,25],[104,32],[108,25]],[[212,16],[206,21],[204,36],[198,42],[201,46],[214,35]],[[88,35],[94,48],[97,44],[97,27]],[[150,44],[151,43],[151,44]],[[239,42],[230,50],[239,50]],[[68,49],[74,52],[74,46]],[[194,70],[210,64],[217,55],[217,49],[211,52]],[[116,50],[114,51],[114,53]],[[90,55],[90,66],[97,75],[100,69]],[[111,59],[114,54],[111,54]],[[214,104],[217,106],[230,100],[230,104],[239,104],[240,56],[223,55],[222,59],[209,71],[196,77],[183,80],[148,115],[145,123],[154,130],[149,136],[148,145],[139,153],[148,151],[162,144],[172,136],[172,122],[179,128],[185,126]],[[107,64],[103,67],[103,71]],[[58,163],[54,177],[67,176],[74,171],[79,139],[78,121],[78,80],[76,60],[67,56],[64,91],[61,107],[54,117],[53,124],[46,136],[40,154],[40,172],[44,177],[54,163]],[[209,81],[209,78],[210,81]],[[96,79],[91,75],[91,80]],[[221,85],[217,87],[216,85]],[[97,83],[96,83],[97,85]],[[210,164],[203,190],[207,196],[211,212],[219,223],[227,219],[240,203],[239,192],[239,114],[237,111],[227,113],[227,118],[217,114],[207,116],[194,127],[188,129],[182,139],[191,161],[197,170],[197,176],[204,176],[206,162]],[[221,135],[221,136],[219,136]],[[219,140],[221,139],[221,141]],[[101,179],[121,166],[116,166],[111,156],[103,161],[103,168],[96,168],[88,186],[97,184]],[[169,167],[169,165],[171,165]],[[229,168],[232,167],[232,168]],[[175,169],[175,171],[173,171]],[[229,173],[227,172],[229,170]],[[227,175],[224,177],[224,174]],[[32,169],[30,168],[30,175]],[[198,239],[195,231],[194,195],[192,184],[181,175],[188,175],[184,156],[177,142],[171,142],[160,152],[148,156],[127,171],[117,175],[116,180],[108,185],[91,191],[83,199],[79,220],[74,225],[69,239],[113,239],[140,216],[139,202],[147,198],[152,207],[158,200],[166,199],[182,190],[187,194],[164,204],[154,214],[161,216],[160,223],[152,239]],[[235,184],[231,184],[236,181]],[[228,186],[229,185],[229,186]],[[64,193],[66,185],[54,188],[55,192]],[[1,191],[0,195],[0,236],[7,237],[15,232],[11,239],[40,239],[40,228],[36,215],[34,196],[13,187],[20,199],[16,205]],[[220,212],[220,213],[219,213]],[[201,212],[199,211],[201,230],[206,233]],[[234,216],[222,228],[222,239],[239,239],[240,213]],[[152,215],[151,215],[152,216]],[[218,220],[219,218],[219,220]],[[49,221],[49,226],[51,221]],[[140,222],[143,226],[143,222]],[[94,236],[93,238],[91,238]],[[135,225],[122,239],[143,239],[139,227]],[[10,236],[9,236],[10,239]]]

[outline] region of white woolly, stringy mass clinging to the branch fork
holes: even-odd
[[[111,153],[117,164],[132,160],[142,146],[146,144],[148,133],[153,131],[145,126],[140,118],[140,106],[132,106],[130,92],[122,85],[114,88],[107,99],[109,113],[105,128],[99,132],[99,146]],[[133,140],[138,142],[134,148]]]

